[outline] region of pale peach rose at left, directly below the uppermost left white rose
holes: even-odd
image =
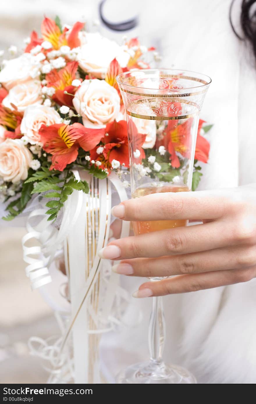
[[[5,107],[13,109],[15,105],[18,111],[23,112],[32,104],[42,103],[42,89],[39,80],[30,80],[22,84],[17,84],[9,91],[8,95],[3,99],[2,104]]]

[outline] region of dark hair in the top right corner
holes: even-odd
[[[241,4],[240,24],[242,29],[242,35],[237,34],[237,31],[232,23],[231,11],[235,0],[232,0],[229,12],[229,19],[231,27],[241,41],[248,41],[252,46],[254,56],[256,58],[256,7],[252,11],[253,5],[256,6],[256,0],[243,0]]]

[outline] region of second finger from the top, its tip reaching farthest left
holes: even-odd
[[[126,237],[110,242],[99,251],[99,256],[105,259],[163,257],[233,246],[238,241],[247,242],[242,238],[238,240],[230,227],[215,221]]]

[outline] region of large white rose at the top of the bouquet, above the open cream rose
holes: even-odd
[[[98,32],[80,32],[82,43],[79,65],[87,73],[97,78],[105,78],[110,62],[116,58],[121,67],[127,66],[130,55],[125,46],[102,37]]]

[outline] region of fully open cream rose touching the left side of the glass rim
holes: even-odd
[[[87,128],[101,128],[120,112],[120,97],[116,89],[104,80],[85,80],[76,91],[73,104]]]

